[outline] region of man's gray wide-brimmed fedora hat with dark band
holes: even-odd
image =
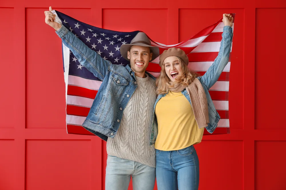
[[[144,47],[150,47],[152,51],[152,60],[156,59],[160,53],[159,53],[159,48],[156,46],[151,46],[151,42],[149,38],[146,36],[144,32],[139,32],[130,42],[130,44],[123,44],[120,46],[120,53],[122,57],[126,60],[129,61],[127,58],[127,51],[131,46],[144,46]]]

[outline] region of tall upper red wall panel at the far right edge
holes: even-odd
[[[285,22],[273,19],[286,9],[256,9],[255,30],[255,129],[286,129],[285,94],[281,84],[286,70]]]

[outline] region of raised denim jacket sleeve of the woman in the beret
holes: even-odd
[[[229,62],[229,53],[231,51],[231,42],[233,38],[233,32],[230,26],[223,27],[222,37],[221,47],[219,48],[219,54],[215,59],[215,62],[213,62],[204,75],[198,77],[200,82],[204,83],[208,89],[217,82],[223,69]]]

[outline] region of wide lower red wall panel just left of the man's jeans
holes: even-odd
[[[27,140],[26,149],[27,190],[91,189],[90,140]]]

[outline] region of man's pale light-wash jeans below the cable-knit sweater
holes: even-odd
[[[118,158],[107,157],[105,189],[127,190],[132,176],[133,190],[153,190],[155,185],[155,168]]]

